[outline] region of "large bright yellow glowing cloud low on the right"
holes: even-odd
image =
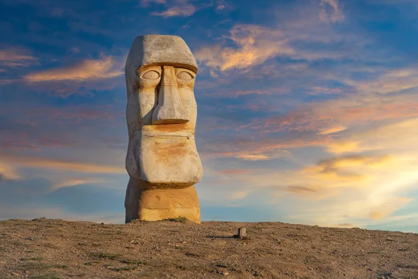
[[[237,163],[236,174],[234,169],[221,170],[217,185],[228,183],[245,189],[226,193],[230,199],[240,197],[240,191],[257,193],[258,201],[264,200],[270,206],[278,206],[278,211],[288,212],[288,222],[326,226],[382,224],[413,201],[408,191],[418,185],[417,127],[418,118],[353,129],[341,137],[329,138],[332,144],[356,142],[355,149],[347,154],[323,154],[329,158],[311,163],[309,149],[304,152],[294,149],[291,156],[274,162],[270,168],[254,169],[251,165],[245,172]],[[268,149],[273,144],[264,146],[260,142],[260,145]],[[233,144],[229,146],[235,151]],[[327,144],[322,146],[327,150]],[[245,152],[247,145],[239,144],[237,149]],[[238,154],[236,151],[229,155]],[[224,177],[223,172],[227,174]],[[251,203],[248,195],[242,195],[245,197],[237,199],[240,204]]]

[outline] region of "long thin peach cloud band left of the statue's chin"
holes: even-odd
[[[14,167],[33,167],[36,169],[66,170],[73,172],[86,173],[111,173],[125,174],[125,166],[96,165],[91,163],[82,163],[70,160],[60,160],[53,158],[40,158],[30,156],[3,155],[2,160]]]

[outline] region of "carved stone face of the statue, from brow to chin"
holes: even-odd
[[[126,169],[148,188],[184,188],[201,180],[195,76],[174,66],[143,66],[127,76]]]

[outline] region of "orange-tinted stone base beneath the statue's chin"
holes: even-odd
[[[126,189],[125,213],[125,223],[135,219],[157,221],[180,216],[201,223],[199,199],[194,186],[144,190],[130,179]]]

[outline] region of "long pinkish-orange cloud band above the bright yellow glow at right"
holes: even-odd
[[[358,123],[365,125],[374,121],[416,116],[418,100],[415,94],[402,97],[375,96],[369,91],[355,91],[343,98],[298,105],[286,114],[254,119],[238,130],[251,129],[258,133],[314,131],[318,135],[332,135],[331,132],[336,133],[343,127],[359,126]]]

